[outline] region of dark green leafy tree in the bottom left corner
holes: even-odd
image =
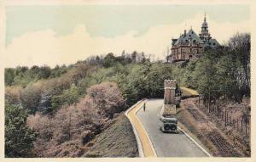
[[[5,105],[4,142],[6,157],[32,157],[34,132],[26,126],[27,113],[20,105]]]

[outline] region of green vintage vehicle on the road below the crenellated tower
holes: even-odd
[[[160,131],[177,133],[177,119],[173,116],[160,115]]]

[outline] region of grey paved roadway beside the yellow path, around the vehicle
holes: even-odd
[[[143,123],[155,152],[158,157],[207,157],[201,148],[189,140],[181,131],[175,133],[163,133],[160,131],[159,114],[163,100],[149,100],[146,103],[146,111],[140,109],[137,112],[138,119]]]

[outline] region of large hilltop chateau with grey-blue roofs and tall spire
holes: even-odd
[[[204,22],[201,25],[199,36],[193,31],[192,27],[177,39],[172,39],[171,54],[168,56],[168,62],[173,63],[180,60],[197,59],[204,52],[205,47],[220,46],[216,39],[213,39],[208,31],[206,14]]]

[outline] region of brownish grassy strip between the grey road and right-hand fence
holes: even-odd
[[[186,91],[187,89],[189,88],[183,88],[183,95],[193,95],[193,92]],[[196,99],[188,98],[182,100],[181,108],[177,110],[179,126],[213,156],[245,156],[234,147],[234,143],[225,135],[224,131],[219,129],[207,115],[201,112],[201,109],[196,108],[196,105],[192,102],[194,100]]]

